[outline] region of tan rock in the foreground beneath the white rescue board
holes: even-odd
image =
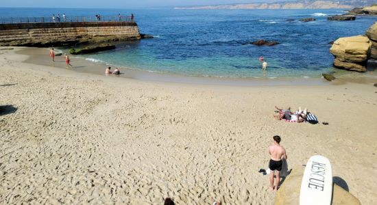
[[[291,174],[284,180],[278,193],[276,193],[275,205],[300,204],[300,189],[304,167],[295,167]],[[361,205],[361,202],[348,191],[337,184],[332,187],[332,205]]]

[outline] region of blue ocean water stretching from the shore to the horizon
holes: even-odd
[[[102,16],[120,12],[135,15],[141,33],[155,38],[123,42],[117,49],[82,58],[123,68],[189,76],[275,78],[320,77],[331,72],[329,42],[343,36],[363,35],[376,20],[328,21],[344,10],[145,10],[9,9],[0,16]],[[301,22],[300,18],[317,18]],[[255,46],[255,40],[280,42]],[[269,64],[261,69],[259,57]],[[339,70],[335,70],[339,72]]]

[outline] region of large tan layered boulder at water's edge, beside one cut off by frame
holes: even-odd
[[[366,36],[339,38],[330,49],[330,53],[335,56],[334,66],[358,72],[367,71],[371,47],[372,42]]]

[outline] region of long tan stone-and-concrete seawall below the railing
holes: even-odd
[[[0,24],[0,46],[68,46],[140,38],[134,22]]]

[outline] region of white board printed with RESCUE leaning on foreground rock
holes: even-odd
[[[320,155],[311,156],[306,163],[300,189],[300,205],[330,205],[332,198],[332,169],[330,161]]]

